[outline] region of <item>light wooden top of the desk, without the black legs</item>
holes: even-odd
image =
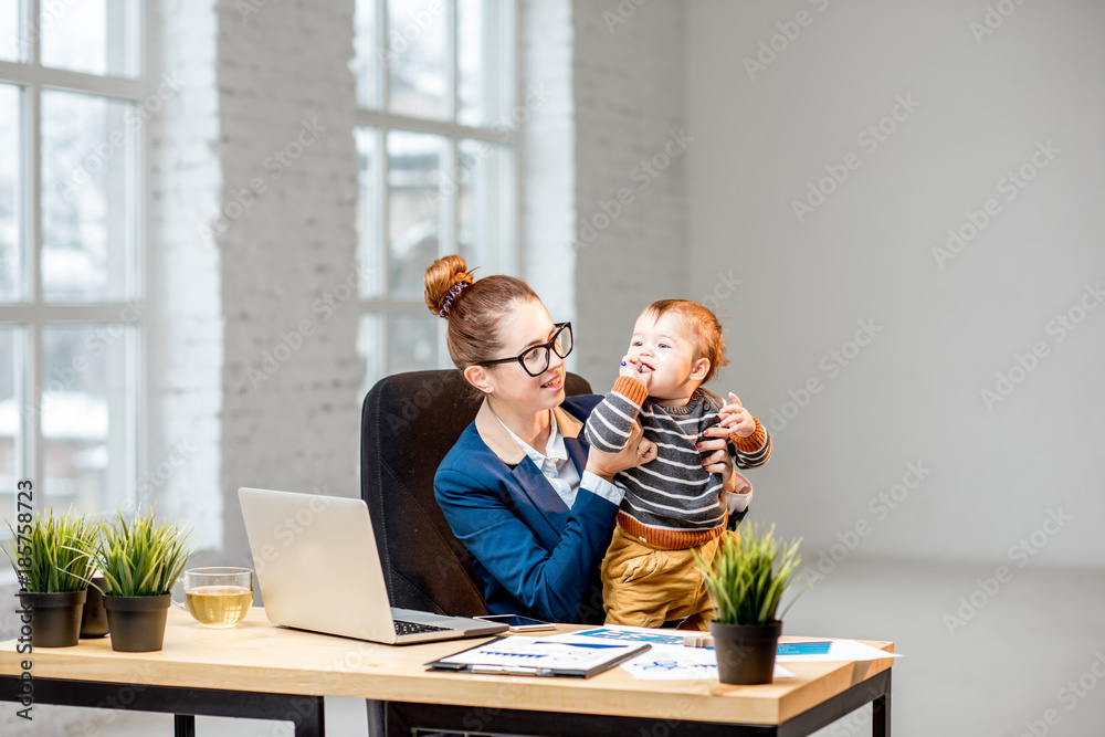
[[[558,627],[560,632],[578,629],[582,628]],[[796,639],[808,638],[783,636]],[[117,653],[107,638],[82,640],[75,647],[34,650],[31,673],[43,678],[780,724],[893,663],[891,657],[786,663],[793,678],[759,686],[729,686],[717,680],[639,681],[620,667],[587,680],[427,672],[424,667],[486,640],[381,645],[273,627],[262,608],[254,608],[233,629],[210,630],[170,609],[160,651]],[[894,652],[893,642],[862,642]],[[14,640],[0,643],[0,674],[21,673],[21,661],[27,657],[15,652]]]

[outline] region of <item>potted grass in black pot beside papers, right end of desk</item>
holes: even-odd
[[[800,541],[777,539],[775,525],[749,525],[739,538],[725,538],[709,565],[696,556],[717,613],[709,631],[722,683],[771,683],[790,604],[777,611],[801,564]]]

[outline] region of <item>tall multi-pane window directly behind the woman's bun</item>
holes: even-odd
[[[460,253],[517,270],[515,3],[357,0],[361,394],[451,366],[422,273]]]

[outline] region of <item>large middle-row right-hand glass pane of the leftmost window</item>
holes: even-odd
[[[42,291],[48,301],[133,295],[138,147],[128,115],[137,115],[131,103],[42,93]]]

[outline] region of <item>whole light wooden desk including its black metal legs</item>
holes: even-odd
[[[561,625],[561,631],[580,629]],[[787,639],[787,638],[785,638]],[[34,703],[292,720],[297,737],[324,734],[323,696],[375,702],[386,734],[413,726],[524,735],[804,735],[874,703],[874,735],[890,734],[893,659],[787,663],[796,675],[761,686],[638,681],[622,668],[593,678],[428,673],[423,664],[486,639],[387,646],[274,628],[255,608],[231,630],[208,630],[169,610],[165,646],[116,653],[107,639],[36,649]],[[867,644],[893,652],[891,642]],[[0,643],[0,701],[17,701],[15,642]],[[370,713],[373,712],[370,706]],[[642,731],[643,729],[643,731]]]

